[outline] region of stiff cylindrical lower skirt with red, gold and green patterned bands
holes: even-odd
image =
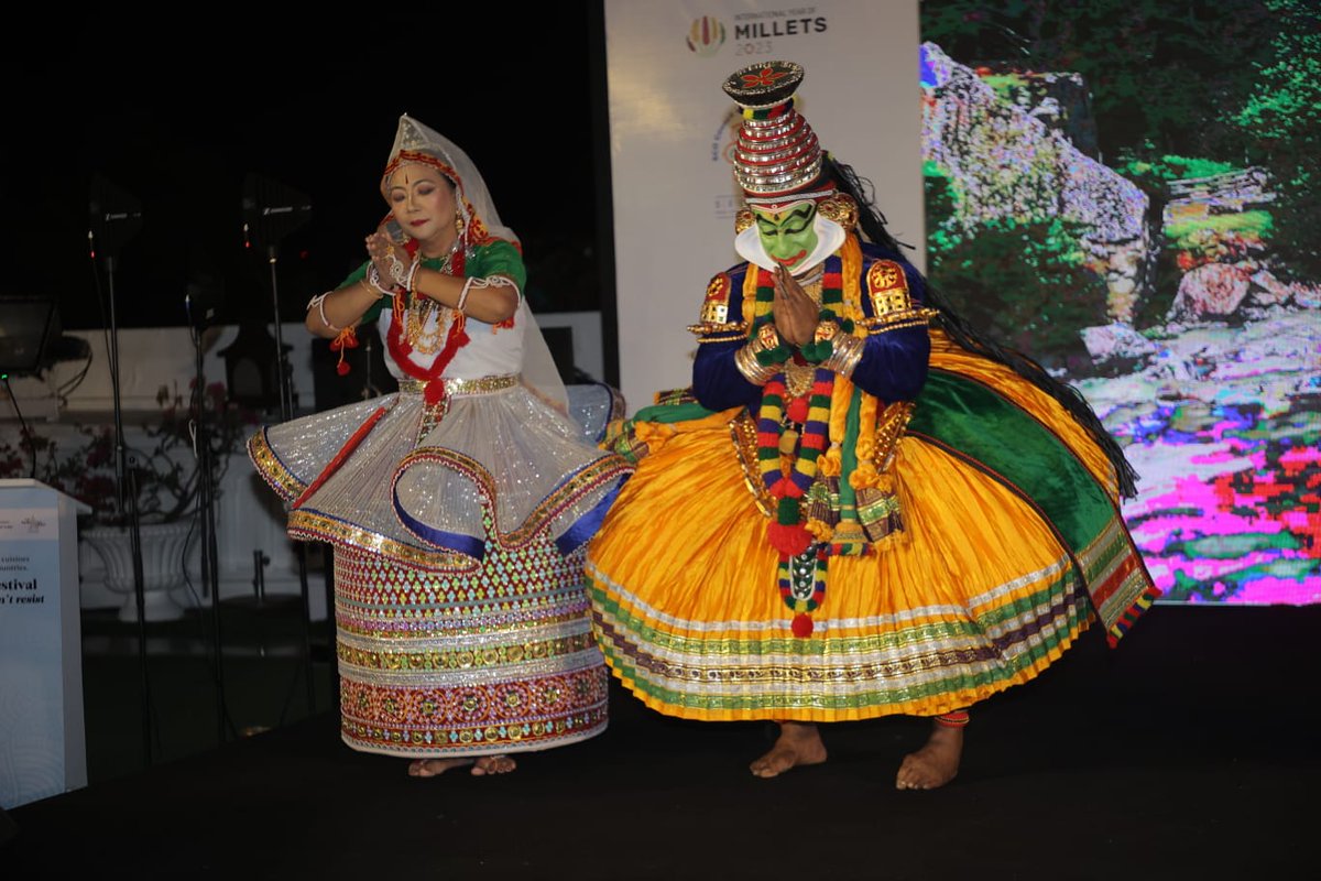
[[[491,548],[477,571],[336,548],[342,736],[404,757],[548,749],[601,733],[608,674],[581,551]]]

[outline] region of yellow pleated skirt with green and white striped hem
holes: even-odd
[[[1029,412],[1114,494],[1104,454],[1054,400],[933,342],[933,369],[974,375]],[[814,722],[939,715],[1055,660],[1094,618],[1089,588],[1104,585],[1125,610],[1153,596],[1118,510],[1085,552],[1070,551],[1018,489],[909,435],[893,465],[904,528],[865,556],[831,557],[812,633],[795,637],[768,518],[731,440],[734,416],[653,432],[588,548],[602,651],[657,711]]]

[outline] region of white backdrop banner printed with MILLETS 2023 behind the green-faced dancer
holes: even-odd
[[[799,110],[822,145],[876,185],[923,267],[915,0],[605,0],[618,281],[629,412],[691,382],[707,283],[734,264],[728,155],[738,108],[720,85],[758,61],[806,69]]]

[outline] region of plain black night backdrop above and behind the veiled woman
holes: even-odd
[[[482,170],[523,239],[534,309],[597,308],[598,26],[592,4],[444,3],[353,15],[103,7],[16,28],[3,61],[0,296],[50,295],[66,329],[103,326],[106,252],[94,262],[87,248],[100,174],[143,211],[114,262],[120,326],[184,324],[190,285],[222,304],[219,321],[269,320],[269,265],[243,247],[243,184],[256,173],[312,203],[279,246],[281,317],[299,320],[308,296],[361,262],[408,112]]]

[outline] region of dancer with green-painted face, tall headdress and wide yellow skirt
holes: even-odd
[[[933,719],[896,785],[958,770],[968,708],[1159,596],[1133,474],[1083,399],[939,301],[794,108],[798,65],[734,73],[746,262],[707,288],[692,387],[614,428],[638,462],[588,549],[601,647],[649,707],[816,724]]]

